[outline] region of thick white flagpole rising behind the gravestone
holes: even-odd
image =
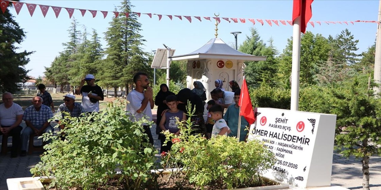
[[[291,71],[291,110],[299,109],[299,73],[300,73],[300,16],[293,25],[292,71]]]

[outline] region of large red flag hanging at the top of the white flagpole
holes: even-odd
[[[311,4],[314,0],[294,0],[292,8],[292,24],[300,16],[300,31],[306,33],[307,23],[312,17]]]

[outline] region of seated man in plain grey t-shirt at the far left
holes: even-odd
[[[0,104],[0,135],[3,138],[12,136],[12,152],[11,157],[17,157],[17,152],[20,147],[20,132],[22,127],[22,111],[21,106],[13,103],[13,96],[9,92],[3,94],[3,102]]]

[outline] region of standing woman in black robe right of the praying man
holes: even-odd
[[[169,91],[168,86],[166,84],[160,85],[160,91],[157,93],[155,97],[155,105],[157,105],[157,120],[156,120],[156,134],[159,135],[158,139],[162,138],[162,130],[158,127],[160,120],[162,119],[162,113],[164,110],[168,109],[166,105],[165,98],[169,95],[175,95],[173,92]]]

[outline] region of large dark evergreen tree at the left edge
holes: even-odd
[[[9,4],[11,6],[12,3]],[[14,93],[20,87],[21,82],[26,82],[29,78],[25,65],[29,62],[28,56],[33,52],[19,52],[20,44],[25,38],[24,31],[19,24],[13,20],[8,9],[0,14],[0,92]]]

